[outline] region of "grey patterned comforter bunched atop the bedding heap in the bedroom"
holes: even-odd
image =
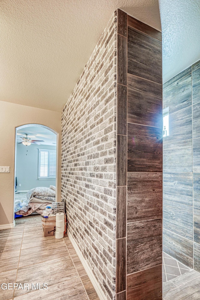
[[[45,203],[45,202],[55,202],[56,197],[56,187],[35,187],[27,192],[27,202],[35,203]],[[42,197],[42,198],[41,198]]]

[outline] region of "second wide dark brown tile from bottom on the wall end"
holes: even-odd
[[[162,264],[162,219],[127,224],[127,274]]]

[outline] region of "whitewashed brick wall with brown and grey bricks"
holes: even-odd
[[[68,231],[108,299],[115,295],[116,47],[115,12],[62,115]]]

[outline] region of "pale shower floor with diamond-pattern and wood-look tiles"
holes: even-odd
[[[200,273],[163,253],[163,300],[199,300]]]

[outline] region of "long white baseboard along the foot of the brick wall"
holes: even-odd
[[[93,272],[91,271],[91,269],[89,268],[87,262],[85,261],[85,258],[83,257],[83,254],[81,253],[81,251],[78,248],[76,242],[74,241],[71,233],[67,232],[67,235],[68,235],[68,237],[70,239],[70,242],[72,243],[72,245],[73,245],[73,247],[74,247],[74,249],[75,249],[75,251],[76,251],[76,253],[77,253],[77,255],[78,255],[78,257],[79,257],[79,259],[80,259],[80,261],[81,261],[81,263],[82,263],[82,265],[84,267],[84,269],[85,269],[85,272],[87,273],[88,277],[90,278],[90,281],[92,282],[92,285],[93,285],[95,291],[97,292],[97,295],[98,295],[99,299],[100,300],[107,300],[107,298],[104,295],[101,287],[98,284],[97,279],[94,277]]]

